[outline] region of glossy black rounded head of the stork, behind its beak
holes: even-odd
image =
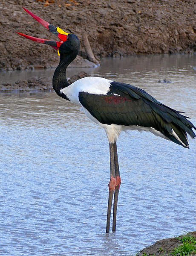
[[[67,40],[59,47],[60,57],[67,55],[78,55],[80,50],[80,40],[77,35],[69,34]]]

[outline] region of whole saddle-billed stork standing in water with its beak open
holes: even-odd
[[[107,208],[106,232],[110,232],[110,218],[113,203],[112,231],[116,230],[116,212],[121,177],[118,166],[116,141],[122,131],[136,129],[152,132],[154,135],[173,141],[189,148],[187,134],[191,138],[194,125],[187,117],[160,103],[146,91],[133,85],[114,82],[101,77],[84,77],[72,84],[66,79],[66,68],[76,58],[80,49],[80,40],[74,34],[66,33],[23,8],[35,20],[57,35],[61,41],[49,41],[24,36],[32,41],[48,44],[58,50],[60,62],[55,70],[52,85],[62,98],[81,106],[81,109],[96,124],[104,128],[110,145],[110,182]]]

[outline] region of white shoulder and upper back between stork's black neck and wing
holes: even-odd
[[[112,81],[102,77],[84,77],[61,89],[61,93],[73,103],[81,105],[78,99],[79,92],[106,95],[110,90],[110,82]]]

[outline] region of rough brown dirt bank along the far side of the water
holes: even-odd
[[[15,33],[56,40],[22,6],[80,39],[86,32],[97,57],[196,50],[194,0],[1,0],[0,70],[58,64],[52,47]],[[85,54],[81,45],[80,55]]]

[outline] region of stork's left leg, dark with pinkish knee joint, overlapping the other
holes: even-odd
[[[106,233],[110,232],[110,218],[112,211],[112,199],[115,191],[116,179],[115,179],[115,160],[114,160],[114,144],[110,143],[110,182],[109,187],[109,197],[108,197],[108,206],[107,206],[107,225]]]

